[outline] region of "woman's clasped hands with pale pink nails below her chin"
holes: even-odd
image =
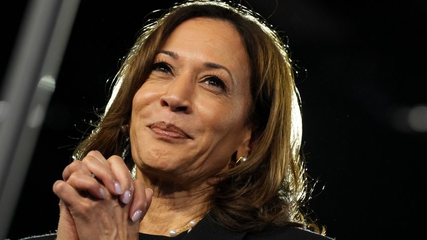
[[[131,178],[119,156],[98,151],[73,161],[53,185],[59,197],[57,239],[138,239],[153,190]]]

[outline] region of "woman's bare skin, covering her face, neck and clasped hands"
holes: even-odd
[[[53,187],[61,199],[58,239],[137,239],[138,230],[166,235],[206,214],[212,177],[229,168],[234,154],[249,155],[250,64],[230,23],[183,22],[154,63],[132,104],[137,179],[120,157],[97,151],[67,166]]]

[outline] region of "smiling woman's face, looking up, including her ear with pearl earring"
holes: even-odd
[[[248,54],[230,23],[180,24],[133,99],[130,137],[139,169],[203,180],[228,169],[234,153],[247,156],[249,79]]]

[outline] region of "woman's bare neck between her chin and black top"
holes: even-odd
[[[153,181],[138,170],[137,178],[144,182],[146,188],[154,191],[150,208],[140,223],[140,232],[168,235],[170,230],[183,228],[190,221],[199,220],[209,209],[208,198],[213,187],[208,184],[182,188],[171,182]],[[188,226],[180,232],[189,228]]]

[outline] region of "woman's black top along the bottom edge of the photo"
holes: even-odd
[[[31,236],[19,240],[55,240],[56,234]],[[231,231],[213,222],[206,215],[190,231],[182,232],[174,237],[139,233],[140,240],[331,240],[333,238],[314,233],[309,230],[290,226],[267,226],[261,231]],[[8,239],[6,239],[8,240]],[[13,239],[12,239],[13,240]]]

